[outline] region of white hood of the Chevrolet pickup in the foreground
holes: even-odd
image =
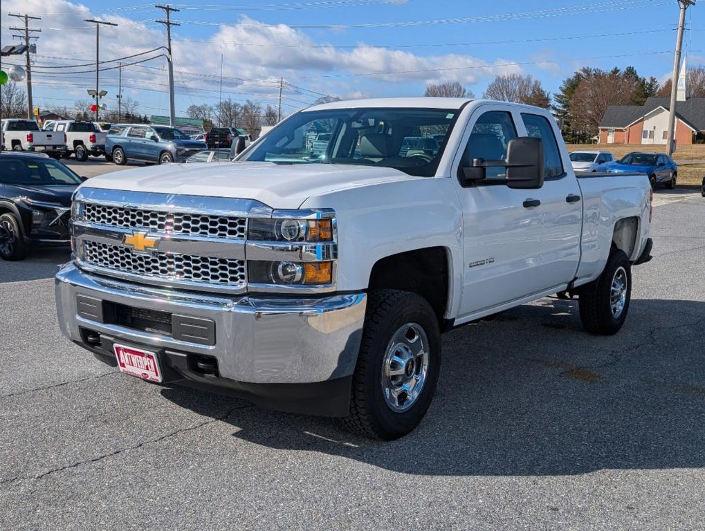
[[[419,180],[393,168],[269,162],[166,164],[92,177],[82,186],[233,199],[299,208],[310,196],[379,182]]]

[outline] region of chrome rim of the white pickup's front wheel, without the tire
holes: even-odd
[[[402,413],[416,403],[428,369],[426,332],[417,323],[406,323],[394,332],[382,360],[382,394],[392,411]]]

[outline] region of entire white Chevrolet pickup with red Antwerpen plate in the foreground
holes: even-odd
[[[400,154],[431,135],[435,154]],[[85,182],[56,304],[63,333],[124,373],[394,439],[429,407],[441,332],[551,294],[618,332],[650,223],[646,176],[577,178],[544,109],[341,101],[234,163]]]

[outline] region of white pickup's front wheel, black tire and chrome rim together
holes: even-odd
[[[390,441],[421,422],[441,369],[441,332],[422,296],[394,289],[369,293],[353,374],[349,431]]]

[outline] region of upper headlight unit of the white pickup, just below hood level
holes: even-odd
[[[333,220],[252,218],[247,239],[257,242],[332,242]]]

